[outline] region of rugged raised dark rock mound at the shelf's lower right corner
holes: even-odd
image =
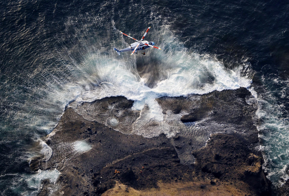
[[[195,166],[216,178],[252,185],[258,195],[270,195],[270,183],[262,171],[262,154],[248,148],[249,141],[238,134],[213,134],[207,145],[192,154]]]

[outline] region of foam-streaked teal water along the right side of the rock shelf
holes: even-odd
[[[289,137],[289,122],[288,114],[284,112],[284,103],[277,102],[274,93],[278,92],[281,98],[288,94],[289,81],[284,81],[277,76],[264,83],[270,84],[264,87],[266,93],[260,94],[257,98],[256,122],[261,121],[256,124],[261,139],[259,149],[263,152],[265,160],[263,168],[268,173],[266,177],[275,187],[280,187],[289,179],[289,141],[286,139]],[[278,83],[281,83],[280,90]]]

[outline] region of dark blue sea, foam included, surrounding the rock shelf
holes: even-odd
[[[160,96],[239,87],[257,100],[263,168],[278,188],[289,178],[288,13],[276,0],[1,1],[0,195],[37,195],[52,179],[29,160],[53,153],[40,138],[71,101],[121,95],[157,110]],[[134,42],[119,31],[139,40],[149,26],[161,51],[113,50]]]

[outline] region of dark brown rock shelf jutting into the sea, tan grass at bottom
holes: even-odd
[[[164,115],[179,115],[168,123],[177,132],[171,138],[125,134],[141,112],[131,110],[133,101],[124,97],[66,108],[44,138],[51,158],[30,163],[33,171],[61,172],[58,189],[45,180],[38,195],[272,195],[256,150],[251,98],[245,88],[158,98]],[[90,148],[77,150],[76,141]]]

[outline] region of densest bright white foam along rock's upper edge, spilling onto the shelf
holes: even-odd
[[[90,68],[94,70],[90,70],[90,72],[95,72],[97,77],[92,78],[88,75],[86,77],[88,77],[88,81],[94,80],[93,83],[99,85],[91,86],[90,84],[89,89],[92,90],[86,91],[89,84],[82,83],[81,86],[86,88],[83,88],[83,93],[77,96],[75,102],[71,103],[70,106],[76,108],[82,102],[91,102],[110,96],[125,96],[129,100],[135,101],[132,109],[142,110],[145,106],[149,108],[145,111],[145,115],[142,112],[138,119],[138,126],[134,126],[138,128],[133,132],[144,137],[153,137],[160,132],[152,133],[151,130],[147,130],[146,133],[145,130],[141,129],[142,126],[139,123],[145,125],[151,121],[162,122],[164,120],[164,114],[155,101],[156,98],[206,94],[214,90],[249,88],[251,85],[251,79],[241,75],[241,66],[229,70],[209,55],[188,54],[183,49],[183,51],[175,51],[175,53],[158,52],[153,56],[155,60],[161,62],[159,68],[167,73],[166,79],[157,81],[153,88],[145,85],[148,78],[141,78],[138,75],[134,66],[136,62],[127,63],[123,59],[112,57],[90,59],[89,61],[94,61],[95,64],[94,68]],[[67,88],[71,88],[71,84]],[[111,121],[109,124],[112,123],[111,126],[114,126]],[[165,134],[175,135],[175,133],[170,132]]]

